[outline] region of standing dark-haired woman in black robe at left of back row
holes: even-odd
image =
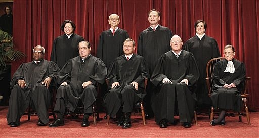
[[[58,64],[60,69],[62,69],[69,59],[79,55],[78,43],[84,39],[82,36],[74,33],[75,28],[74,22],[65,20],[60,26],[60,29],[64,34],[53,41],[51,61]]]

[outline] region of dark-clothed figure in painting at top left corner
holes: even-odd
[[[7,6],[5,8],[5,14],[0,17],[0,29],[11,36],[13,35],[13,14],[11,6]]]

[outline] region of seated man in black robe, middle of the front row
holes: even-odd
[[[134,54],[134,50],[134,40],[126,39],[123,45],[124,55],[114,60],[107,75],[111,88],[104,97],[107,114],[119,118],[117,125],[122,128],[131,127],[133,106],[144,97],[144,79],[149,77],[144,58]]]

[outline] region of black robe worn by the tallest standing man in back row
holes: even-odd
[[[147,61],[149,73],[152,74],[159,57],[171,50],[172,31],[159,25],[155,31],[150,27],[140,33],[137,54]]]

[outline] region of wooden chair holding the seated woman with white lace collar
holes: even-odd
[[[218,61],[224,60],[224,57],[218,57],[218,58],[213,58],[211,60],[208,61],[207,66],[206,66],[206,73],[207,73],[207,77],[206,77],[206,83],[207,83],[207,87],[208,87],[208,95],[210,97],[211,93],[212,93],[212,73],[215,67],[215,64]],[[241,91],[241,98],[242,101],[244,102],[244,108],[246,113],[243,114],[241,112],[236,113],[227,113],[225,116],[238,116],[239,117],[239,122],[242,122],[242,116],[246,116],[247,122],[249,125],[251,125],[250,122],[250,117],[249,117],[249,112],[248,112],[248,107],[247,107],[247,97],[249,97],[250,95],[247,94],[247,84],[248,81],[250,80],[250,77],[246,77],[245,81],[244,81],[244,88],[243,91]],[[214,118],[214,108],[211,106],[211,112],[210,112],[210,121],[212,121]]]

